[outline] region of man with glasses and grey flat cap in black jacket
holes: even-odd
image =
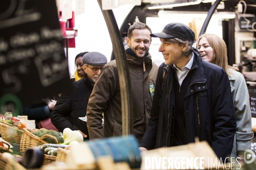
[[[84,140],[89,139],[86,122],[79,117],[86,116],[86,108],[93,86],[108,60],[105,55],[98,52],[89,52],[83,56],[84,78],[73,82],[70,92],[62,93],[52,110],[52,124],[61,132],[66,127],[78,130]]]

